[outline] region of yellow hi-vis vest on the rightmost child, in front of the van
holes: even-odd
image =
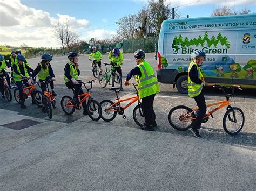
[[[200,67],[197,65],[197,63],[192,61],[190,63],[190,66],[188,67],[188,77],[187,77],[187,86],[188,86],[187,93],[188,93],[188,96],[190,96],[190,97],[198,96],[201,93],[201,90],[203,89],[203,86],[201,86],[201,84],[194,83],[190,79],[189,72],[193,65],[196,65],[196,67],[197,67],[198,78],[201,79],[202,81],[204,81],[204,77],[203,77]]]

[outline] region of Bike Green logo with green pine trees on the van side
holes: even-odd
[[[205,53],[211,54],[226,54],[227,50],[230,48],[230,41],[226,36],[222,36],[221,32],[219,32],[218,36],[212,36],[211,39],[208,36],[208,33],[205,32],[204,36],[198,36],[198,38],[188,39],[179,34],[179,36],[175,36],[172,41],[172,52],[173,54],[177,54],[179,49],[181,48],[182,54],[191,54],[196,49],[189,48],[190,46],[196,45],[197,47],[200,45],[202,50]],[[217,48],[217,45],[225,46],[226,48]],[[211,48],[214,46],[214,48]]]

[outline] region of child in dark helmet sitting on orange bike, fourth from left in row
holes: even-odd
[[[69,89],[73,89],[73,99],[72,102],[73,104],[78,104],[78,95],[83,94],[82,90],[82,81],[78,80],[78,76],[80,75],[80,70],[78,68],[78,54],[76,52],[70,52],[68,55],[69,62],[66,63],[66,66],[64,68],[64,82],[66,87]],[[80,100],[82,100],[83,97],[80,97]],[[87,110],[86,110],[86,102],[82,103],[82,106],[84,108],[84,115],[87,115]]]

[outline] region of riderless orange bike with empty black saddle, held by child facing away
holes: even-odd
[[[126,116],[124,115],[124,110],[128,108],[131,104],[138,101],[138,105],[133,109],[132,117],[134,119],[134,122],[139,125],[143,126],[145,123],[145,117],[143,115],[142,111],[142,102],[139,100],[139,93],[136,88],[136,84],[133,83],[134,88],[136,89],[136,96],[125,98],[124,100],[120,100],[120,98],[117,95],[117,90],[120,89],[120,87],[111,87],[110,90],[114,90],[116,93],[116,102],[112,102],[110,100],[103,100],[100,102],[100,105],[102,105],[102,119],[106,122],[112,121],[114,118],[116,118],[117,114],[122,115],[122,117],[125,119]],[[131,100],[130,103],[126,104],[124,107],[121,106],[121,102],[125,102],[127,100]]]

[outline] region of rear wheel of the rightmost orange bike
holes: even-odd
[[[186,107],[185,105],[178,105],[178,106],[172,108],[168,114],[168,121],[169,121],[170,125],[174,129],[177,129],[180,131],[185,131],[185,130],[188,130],[189,128],[191,128],[191,126],[193,126],[193,124],[194,124],[194,120],[193,121],[190,119],[183,120],[183,121],[180,120],[180,118],[182,116],[184,116],[185,114],[187,114],[190,111],[191,111],[191,109]]]

